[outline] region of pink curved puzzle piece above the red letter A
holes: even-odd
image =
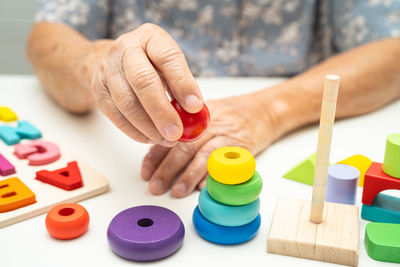
[[[27,144],[16,144],[14,154],[19,159],[28,159],[29,165],[49,164],[61,157],[58,146],[51,142],[35,140]]]

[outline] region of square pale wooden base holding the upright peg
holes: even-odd
[[[310,222],[311,201],[280,198],[267,240],[267,252],[358,265],[358,207],[325,203],[323,222]]]

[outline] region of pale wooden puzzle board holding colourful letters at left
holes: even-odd
[[[8,123],[7,125],[13,124]],[[47,140],[46,138],[41,138],[41,140],[57,144],[61,151],[61,158],[50,164],[42,166],[30,166],[28,165],[28,160],[20,160],[13,154],[14,146],[8,146],[0,140],[0,153],[9,162],[11,162],[11,164],[14,165],[16,170],[16,173],[14,174],[0,176],[0,181],[12,177],[18,177],[35,193],[37,201],[34,204],[16,210],[0,213],[0,228],[43,214],[57,204],[65,202],[77,202],[104,193],[109,189],[108,181],[103,175],[87,165],[81,159],[78,159],[65,147],[53,140]],[[32,140],[21,140],[20,143],[29,143],[30,141]],[[36,171],[57,170],[66,167],[67,163],[71,161],[78,162],[82,176],[83,187],[72,191],[66,191],[35,179]]]

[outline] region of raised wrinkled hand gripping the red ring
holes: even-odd
[[[203,106],[182,51],[154,24],[143,24],[113,42],[95,68],[91,91],[100,110],[125,134],[163,146],[174,145],[183,132],[167,92],[187,112]]]

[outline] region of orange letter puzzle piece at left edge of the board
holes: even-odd
[[[35,194],[17,177],[0,181],[0,212],[36,203]]]

